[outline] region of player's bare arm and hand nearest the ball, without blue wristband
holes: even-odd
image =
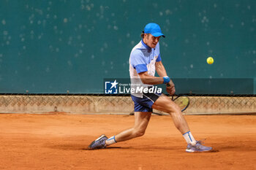
[[[159,75],[159,77],[167,76],[165,66],[162,64],[162,61],[156,62],[156,71],[157,71],[157,74]],[[170,93],[170,95],[173,95],[175,93],[176,90],[175,90],[174,83],[172,80],[170,80],[170,82],[168,82],[166,90],[168,93]]]

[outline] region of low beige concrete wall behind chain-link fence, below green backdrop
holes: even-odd
[[[186,115],[256,113],[256,97],[189,98]],[[0,96],[1,113],[129,114],[132,111],[133,102],[129,96]]]

